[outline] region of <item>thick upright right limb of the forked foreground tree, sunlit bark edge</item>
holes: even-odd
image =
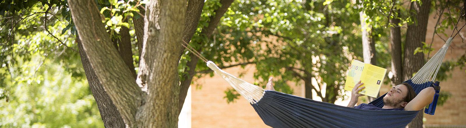
[[[178,54],[185,25],[185,0],[146,4],[142,58],[137,76],[144,101],[136,115],[140,128],[178,127]]]

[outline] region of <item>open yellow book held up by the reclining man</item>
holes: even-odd
[[[377,67],[371,64],[365,64],[361,61],[351,61],[346,76],[345,90],[352,91],[358,81],[364,83],[361,87],[366,87],[359,92],[370,97],[377,97],[380,91],[387,69]],[[359,88],[361,88],[359,87]]]

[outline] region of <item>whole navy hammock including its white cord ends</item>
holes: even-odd
[[[416,94],[430,87],[432,81],[435,81],[451,41],[452,38],[449,38],[411,80],[405,81],[411,84]],[[418,113],[418,111],[364,110],[314,101],[265,90],[221,70],[212,61],[207,61],[207,66],[244,96],[264,123],[273,128],[404,128]],[[384,96],[385,94],[370,104],[382,108]]]

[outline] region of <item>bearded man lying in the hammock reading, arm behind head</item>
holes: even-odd
[[[351,100],[349,101],[348,107],[368,109],[368,110],[407,110],[407,111],[419,111],[426,105],[430,104],[433,100],[435,90],[432,87],[425,88],[416,96],[414,89],[408,83],[402,83],[390,89],[390,91],[384,97],[384,107],[378,108],[372,104],[362,103],[356,105],[359,96],[358,92],[365,87],[359,88],[364,83],[359,81],[351,91]],[[272,78],[269,78],[267,90],[275,90]]]

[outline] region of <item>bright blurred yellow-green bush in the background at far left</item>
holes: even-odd
[[[50,28],[59,33],[53,28],[59,27]],[[7,94],[7,100],[0,100],[0,127],[102,128],[79,54],[50,48],[57,47],[55,39],[43,32],[17,38],[15,54],[7,54],[0,68],[0,88]]]

